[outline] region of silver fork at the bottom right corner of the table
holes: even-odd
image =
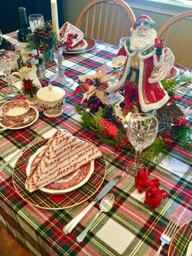
[[[170,221],[168,223],[168,226],[165,228],[164,232],[160,236],[161,245],[156,252],[155,256],[158,256],[160,254],[161,249],[164,247],[165,244],[169,244],[172,240],[172,236],[174,236],[175,232],[177,231],[178,223],[173,223]]]

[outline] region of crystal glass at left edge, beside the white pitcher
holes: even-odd
[[[11,69],[15,66],[19,55],[15,51],[1,51],[0,52],[0,70],[7,78],[8,90],[5,99],[14,99],[17,96],[17,90],[12,86]]]

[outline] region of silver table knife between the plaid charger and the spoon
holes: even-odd
[[[113,188],[116,183],[121,179],[121,176],[116,176],[115,179],[112,179],[107,185],[101,190],[101,192],[98,193],[97,196],[94,197],[94,201],[92,201],[87,207],[81,211],[78,215],[76,215],[75,218],[72,218],[72,220],[63,227],[63,232],[65,234],[69,234],[72,232],[73,228],[76,227],[76,225],[81,221],[81,219],[89,212],[89,210],[99,201],[103,198],[103,196],[107,195],[107,192],[110,192],[111,188]]]

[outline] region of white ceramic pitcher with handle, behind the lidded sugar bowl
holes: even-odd
[[[41,83],[37,77],[37,67],[35,65],[33,65],[32,67],[28,68],[27,66],[24,66],[23,68],[20,68],[19,72],[13,72],[11,74],[11,78],[14,75],[18,75],[20,77],[20,88],[22,89],[23,86],[23,82],[22,80],[33,80],[33,84],[37,87],[41,87]],[[15,84],[14,80],[12,79],[13,83]],[[16,86],[16,85],[15,85]],[[18,86],[16,86],[18,87]]]

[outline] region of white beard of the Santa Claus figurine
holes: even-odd
[[[133,31],[130,37],[130,50],[131,51],[144,51],[148,46],[155,43],[157,33],[155,29],[150,29],[145,35]]]

